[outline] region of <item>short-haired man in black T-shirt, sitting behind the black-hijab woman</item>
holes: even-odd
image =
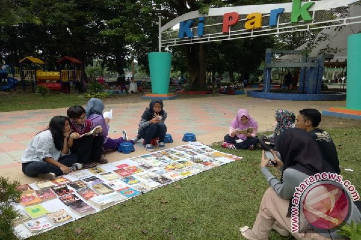
[[[337,150],[329,133],[317,128],[321,122],[321,113],[317,109],[305,108],[296,117],[296,127],[306,130],[317,141],[323,158],[331,164],[336,173],[340,173]]]

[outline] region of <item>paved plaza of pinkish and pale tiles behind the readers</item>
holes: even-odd
[[[140,96],[139,96],[140,98]],[[119,103],[105,105],[105,110],[113,109],[109,136],[120,137],[122,130],[134,137],[138,123],[147,102]],[[223,140],[231,120],[238,109],[245,108],[259,124],[258,131],[272,131],[275,126],[274,110],[285,108],[295,113],[302,108],[316,108],[320,111],[329,107],[344,107],[345,101],[281,101],[249,98],[244,95],[215,95],[209,98],[175,99],[164,101],[168,112],[165,121],[167,133],[174,142],[170,147],[183,144],[182,136],[186,132],[196,134],[197,141],[212,144]],[[66,115],[67,108],[42,109],[0,113],[0,175],[18,179],[22,184],[35,182],[36,178],[25,176],[21,171],[21,155],[32,137],[47,127],[50,119],[56,115]],[[130,154],[112,151],[106,153],[109,162],[145,154],[142,141],[135,144],[135,152]]]

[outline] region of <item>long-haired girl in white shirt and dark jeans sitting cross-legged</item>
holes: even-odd
[[[22,171],[29,177],[53,179],[82,168],[76,154],[70,154],[70,119],[56,116],[49,127],[37,133],[21,157]],[[72,133],[73,134],[73,133]]]

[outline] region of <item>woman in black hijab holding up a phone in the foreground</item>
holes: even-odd
[[[281,133],[275,141],[282,161],[271,150],[275,164],[270,165],[270,159],[265,158],[264,151],[262,151],[261,171],[270,187],[263,195],[260,210],[252,230],[248,226],[240,228],[241,234],[249,240],[268,240],[272,228],[281,236],[288,236],[292,227],[291,207],[293,204],[290,199],[293,198],[295,187],[298,187],[306,178],[316,173],[335,173],[331,165],[323,160],[317,142],[306,131],[290,128]],[[267,168],[269,166],[282,171],[280,181],[269,171]],[[353,205],[349,222],[351,220],[360,221],[360,217],[360,212]],[[300,231],[292,232],[296,239],[342,239],[336,231],[323,233],[315,231],[308,224],[303,214],[299,216],[299,219]]]

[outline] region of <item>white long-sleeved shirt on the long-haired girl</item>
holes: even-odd
[[[31,139],[29,146],[27,146],[25,153],[21,157],[21,162],[41,162],[44,158],[53,158],[57,161],[63,155],[66,154],[62,154],[61,151],[56,149],[50,130],[46,130]]]

